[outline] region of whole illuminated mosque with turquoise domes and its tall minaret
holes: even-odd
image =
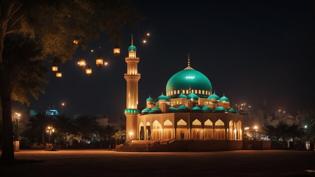
[[[165,94],[146,99],[146,108],[138,108],[136,47],[131,40],[125,58],[127,73],[126,133],[132,140],[242,140],[244,117],[230,107],[223,94],[212,92],[209,79],[190,66],[175,73]]]

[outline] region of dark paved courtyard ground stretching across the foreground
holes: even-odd
[[[315,151],[21,150],[1,176],[315,176]],[[33,161],[29,161],[32,159]]]

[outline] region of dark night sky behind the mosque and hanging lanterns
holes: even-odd
[[[32,100],[27,109],[38,112],[55,106],[69,117],[74,114],[109,114],[124,117],[126,72],[130,34],[134,36],[137,56],[139,109],[151,94],[155,99],[170,77],[187,67],[207,76],[218,96],[228,97],[231,105],[251,104],[295,114],[314,108],[315,100],[315,25],[313,1],[134,1],[146,17],[139,29],[124,28],[124,41],[116,61],[114,43],[101,34],[86,51],[79,49],[72,61],[59,65],[63,72],[57,82],[48,73],[46,93]],[[132,15],[132,14],[130,14]],[[88,24],[87,24],[88,25]],[[146,37],[150,33],[150,37]],[[147,43],[143,44],[142,40]],[[109,62],[98,70],[98,47]],[[90,50],[95,50],[91,53]],[[77,65],[85,57],[93,69],[88,77]]]

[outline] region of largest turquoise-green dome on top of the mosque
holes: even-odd
[[[190,66],[180,72],[177,72],[169,79],[166,85],[166,92],[168,93],[169,98],[177,98],[181,93],[174,94],[174,90],[178,93],[182,89],[186,91],[189,90],[189,87],[192,90],[198,90],[196,95],[200,98],[208,98],[209,95],[206,93],[209,93],[209,91],[212,92],[212,85],[209,79],[204,74],[194,70]],[[199,90],[201,91],[201,94],[199,94]]]

